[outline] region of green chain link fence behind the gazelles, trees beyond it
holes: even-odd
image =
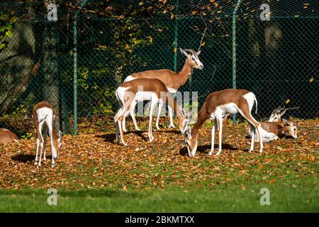
[[[267,1],[268,14],[263,3],[1,2],[0,127],[25,134],[42,100],[55,106],[65,133],[75,133],[82,118],[111,118],[123,79],[144,70],[178,72],[185,61],[179,48],[201,48],[204,69],[180,89],[198,92],[199,108],[211,92],[236,87],[256,94],[258,119],[278,106],[316,118],[319,2]],[[49,20],[48,4],[57,6],[57,21]]]

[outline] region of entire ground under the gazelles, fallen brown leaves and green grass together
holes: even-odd
[[[245,125],[228,126],[218,157],[207,154],[209,124],[195,157],[170,129],[153,143],[126,133],[128,147],[111,129],[68,135],[54,168],[35,167],[35,139],[21,140],[0,146],[0,212],[319,212],[318,120],[300,128],[298,139],[265,143],[259,154],[247,152]],[[57,206],[47,204],[50,188]],[[260,204],[263,188],[270,205]]]

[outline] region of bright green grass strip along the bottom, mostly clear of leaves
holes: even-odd
[[[1,212],[318,212],[315,185],[279,182],[272,185],[223,184],[214,187],[176,188],[135,192],[114,189],[58,191],[57,206],[47,204],[45,190],[0,192]],[[260,204],[262,187],[270,192],[270,205]]]

